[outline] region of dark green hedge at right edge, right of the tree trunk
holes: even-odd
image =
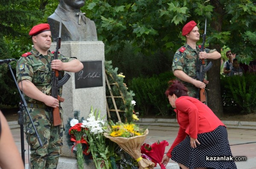
[[[224,108],[237,113],[256,113],[256,76],[245,74],[244,76],[231,76],[221,78],[222,99]]]

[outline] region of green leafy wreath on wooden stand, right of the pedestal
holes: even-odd
[[[111,91],[114,96],[121,96],[121,93],[122,93],[124,101],[122,100],[122,98],[115,99],[116,106],[118,109],[125,111],[125,114],[123,116],[120,115],[119,113],[122,122],[130,123],[133,121],[132,114],[134,110],[134,105],[131,104],[131,101],[133,100],[133,96],[135,95],[132,90],[130,91],[127,90],[128,88],[125,86],[123,82],[124,78],[121,76],[118,76],[117,74],[118,68],[113,69],[113,66],[111,64],[112,64],[112,61],[105,61],[105,70],[108,75],[108,81],[110,84],[116,82],[118,85],[118,86],[111,85]],[[110,76],[112,76],[113,79]],[[107,85],[106,85],[106,95],[110,96],[110,92]],[[112,99],[108,98],[107,102],[108,102],[107,104],[109,108],[114,109]],[[111,120],[117,122],[118,121],[117,119],[112,119],[112,117],[115,118],[115,114],[116,114],[115,112],[111,114]]]

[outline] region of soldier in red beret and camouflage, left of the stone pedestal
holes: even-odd
[[[21,56],[17,63],[17,82],[20,90],[25,94],[29,114],[38,131],[43,147],[39,145],[38,138],[32,123],[25,113],[27,124],[26,140],[30,146],[30,167],[32,169],[56,169],[60,150],[63,145],[63,124],[53,126],[52,107],[59,107],[61,118],[63,110],[58,99],[51,96],[52,69],[78,72],[83,64],[74,58],[58,54],[58,59],[53,60],[53,53],[49,48],[52,36],[49,24],[35,25],[29,32],[34,47],[32,51]],[[61,96],[62,87],[59,95]]]

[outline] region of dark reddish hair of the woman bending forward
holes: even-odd
[[[166,97],[175,94],[178,98],[180,96],[188,96],[188,89],[178,80],[170,80],[169,87],[165,92]]]

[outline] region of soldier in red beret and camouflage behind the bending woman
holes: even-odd
[[[186,44],[176,51],[172,62],[172,71],[189,89],[189,96],[199,99],[198,88],[205,88],[206,84],[196,78],[197,62],[199,59],[219,59],[221,54],[215,49],[205,49],[200,52],[200,46],[196,45],[200,38],[196,25],[192,20],[183,27],[182,36],[186,37]]]

